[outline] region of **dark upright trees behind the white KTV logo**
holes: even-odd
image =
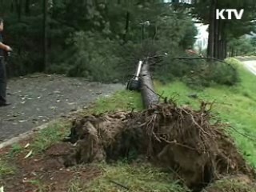
[[[245,9],[242,20],[217,20],[216,9]],[[193,15],[202,23],[209,24],[207,55],[226,58],[230,41],[255,31],[256,2],[254,0],[195,0]]]

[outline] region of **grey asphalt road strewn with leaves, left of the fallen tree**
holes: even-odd
[[[7,99],[12,105],[0,108],[0,142],[122,89],[120,84],[105,85],[62,75],[11,79]]]

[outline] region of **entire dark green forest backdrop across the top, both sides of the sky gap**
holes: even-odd
[[[242,35],[255,31],[254,0],[164,2],[0,0],[4,38],[14,48],[10,74],[44,71],[114,81],[132,73],[142,55],[167,52],[166,67],[180,76],[186,74],[187,63],[181,68],[183,62],[171,58],[182,57],[184,50],[193,47],[197,30],[192,18],[209,24],[210,58],[234,56],[239,50],[243,54]],[[244,8],[245,12],[242,20],[216,20],[216,8]],[[166,67],[157,67],[155,75],[167,73]]]

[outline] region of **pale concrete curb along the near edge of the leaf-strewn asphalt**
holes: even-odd
[[[57,122],[58,120],[57,119],[54,119],[50,122],[46,122],[45,124],[42,124],[41,126],[37,126],[35,127],[33,130],[30,130],[24,134],[20,134],[14,138],[10,138],[8,140],[6,140],[5,142],[1,142],[0,143],[0,150],[6,146],[11,146],[13,145],[14,143],[17,143],[17,142],[21,142],[23,139],[26,139],[26,138],[29,138],[30,135],[38,132],[39,130],[43,130],[45,129],[46,127],[48,127],[51,123],[54,123],[54,122]]]

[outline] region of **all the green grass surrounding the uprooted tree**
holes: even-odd
[[[227,129],[234,137],[238,149],[246,158],[251,166],[256,166],[256,141],[253,135],[255,119],[254,105],[256,104],[256,91],[254,90],[254,82],[256,77],[250,74],[241,66],[241,63],[234,58],[229,58],[226,62],[238,69],[239,82],[234,86],[219,85],[217,83],[211,86],[194,89],[177,78],[173,82],[156,81],[155,87],[159,94],[163,97],[174,99],[180,106],[191,106],[197,109],[202,101],[214,102],[213,113],[216,113],[222,122],[227,122],[232,128]],[[79,112],[78,115],[84,114],[101,114],[105,112],[113,112],[118,110],[142,110],[141,95],[138,93],[122,90],[111,96],[110,98],[101,98],[94,103],[89,109]],[[63,137],[68,134],[70,128],[69,122],[54,122],[45,130],[41,130],[26,149],[25,144],[15,144],[10,147],[7,159],[15,157],[22,158],[33,150],[28,158],[34,158],[34,155],[43,154],[50,146],[61,142]],[[8,160],[1,160],[2,178],[14,174],[15,170]],[[173,180],[174,172],[171,170],[159,170],[143,162],[130,164],[126,159],[122,159],[116,164],[100,163],[95,165],[98,167],[100,174],[89,182],[84,182],[84,178],[74,176],[69,182],[69,191],[126,191],[126,188],[134,191],[189,191],[184,186],[180,186],[180,182]],[[225,184],[226,182],[226,184]],[[37,182],[39,183],[39,182]],[[40,182],[41,183],[41,182]],[[219,185],[218,185],[219,183]],[[221,189],[227,186],[229,181],[218,182],[213,189]],[[223,184],[224,183],[224,184]],[[42,186],[40,184],[40,186]],[[233,186],[234,188],[243,189],[243,184]],[[211,191],[211,190],[209,190]],[[214,190],[213,190],[214,191]],[[238,190],[240,191],[240,190]],[[248,190],[250,191],[250,190]]]

